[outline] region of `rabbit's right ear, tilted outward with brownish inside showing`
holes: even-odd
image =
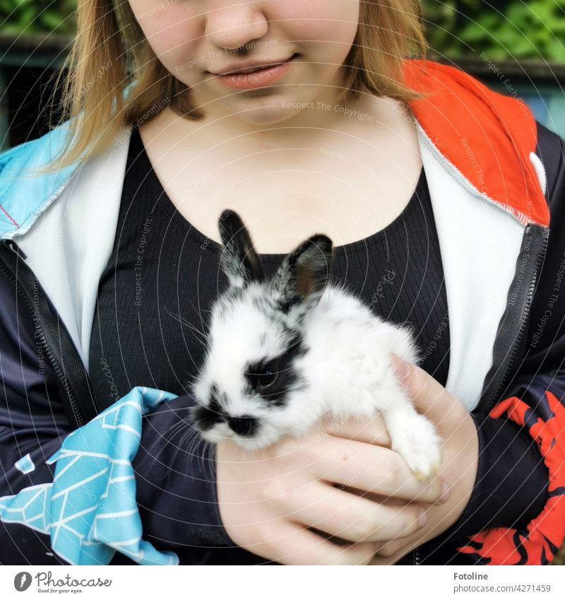
[[[316,233],[296,247],[273,278],[280,310],[287,313],[299,306],[304,314],[319,300],[331,276],[332,241]]]

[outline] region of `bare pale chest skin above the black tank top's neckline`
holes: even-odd
[[[239,213],[259,253],[290,252],[313,233],[345,245],[395,220],[414,193],[422,169],[409,143],[388,151],[343,136],[301,147],[245,151],[228,145],[186,160],[145,145],[157,177],[179,213],[220,241],[218,217]]]

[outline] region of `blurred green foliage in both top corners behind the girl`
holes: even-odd
[[[422,0],[427,38],[450,58],[565,61],[565,0]],[[76,0],[0,0],[5,35],[73,35]]]

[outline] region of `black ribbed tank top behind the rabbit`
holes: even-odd
[[[174,207],[134,127],[90,340],[90,377],[99,406],[135,386],[189,391],[186,384],[203,362],[201,334],[210,304],[227,287],[220,249]],[[285,254],[259,256],[270,276]],[[335,247],[332,276],[347,282],[374,314],[412,324],[422,368],[446,384],[446,290],[423,169],[412,199],[392,223]]]

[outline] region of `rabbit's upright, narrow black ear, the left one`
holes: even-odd
[[[264,281],[261,262],[239,215],[230,209],[222,211],[218,229],[224,245],[220,267],[229,279],[230,286],[243,288],[251,281]]]

